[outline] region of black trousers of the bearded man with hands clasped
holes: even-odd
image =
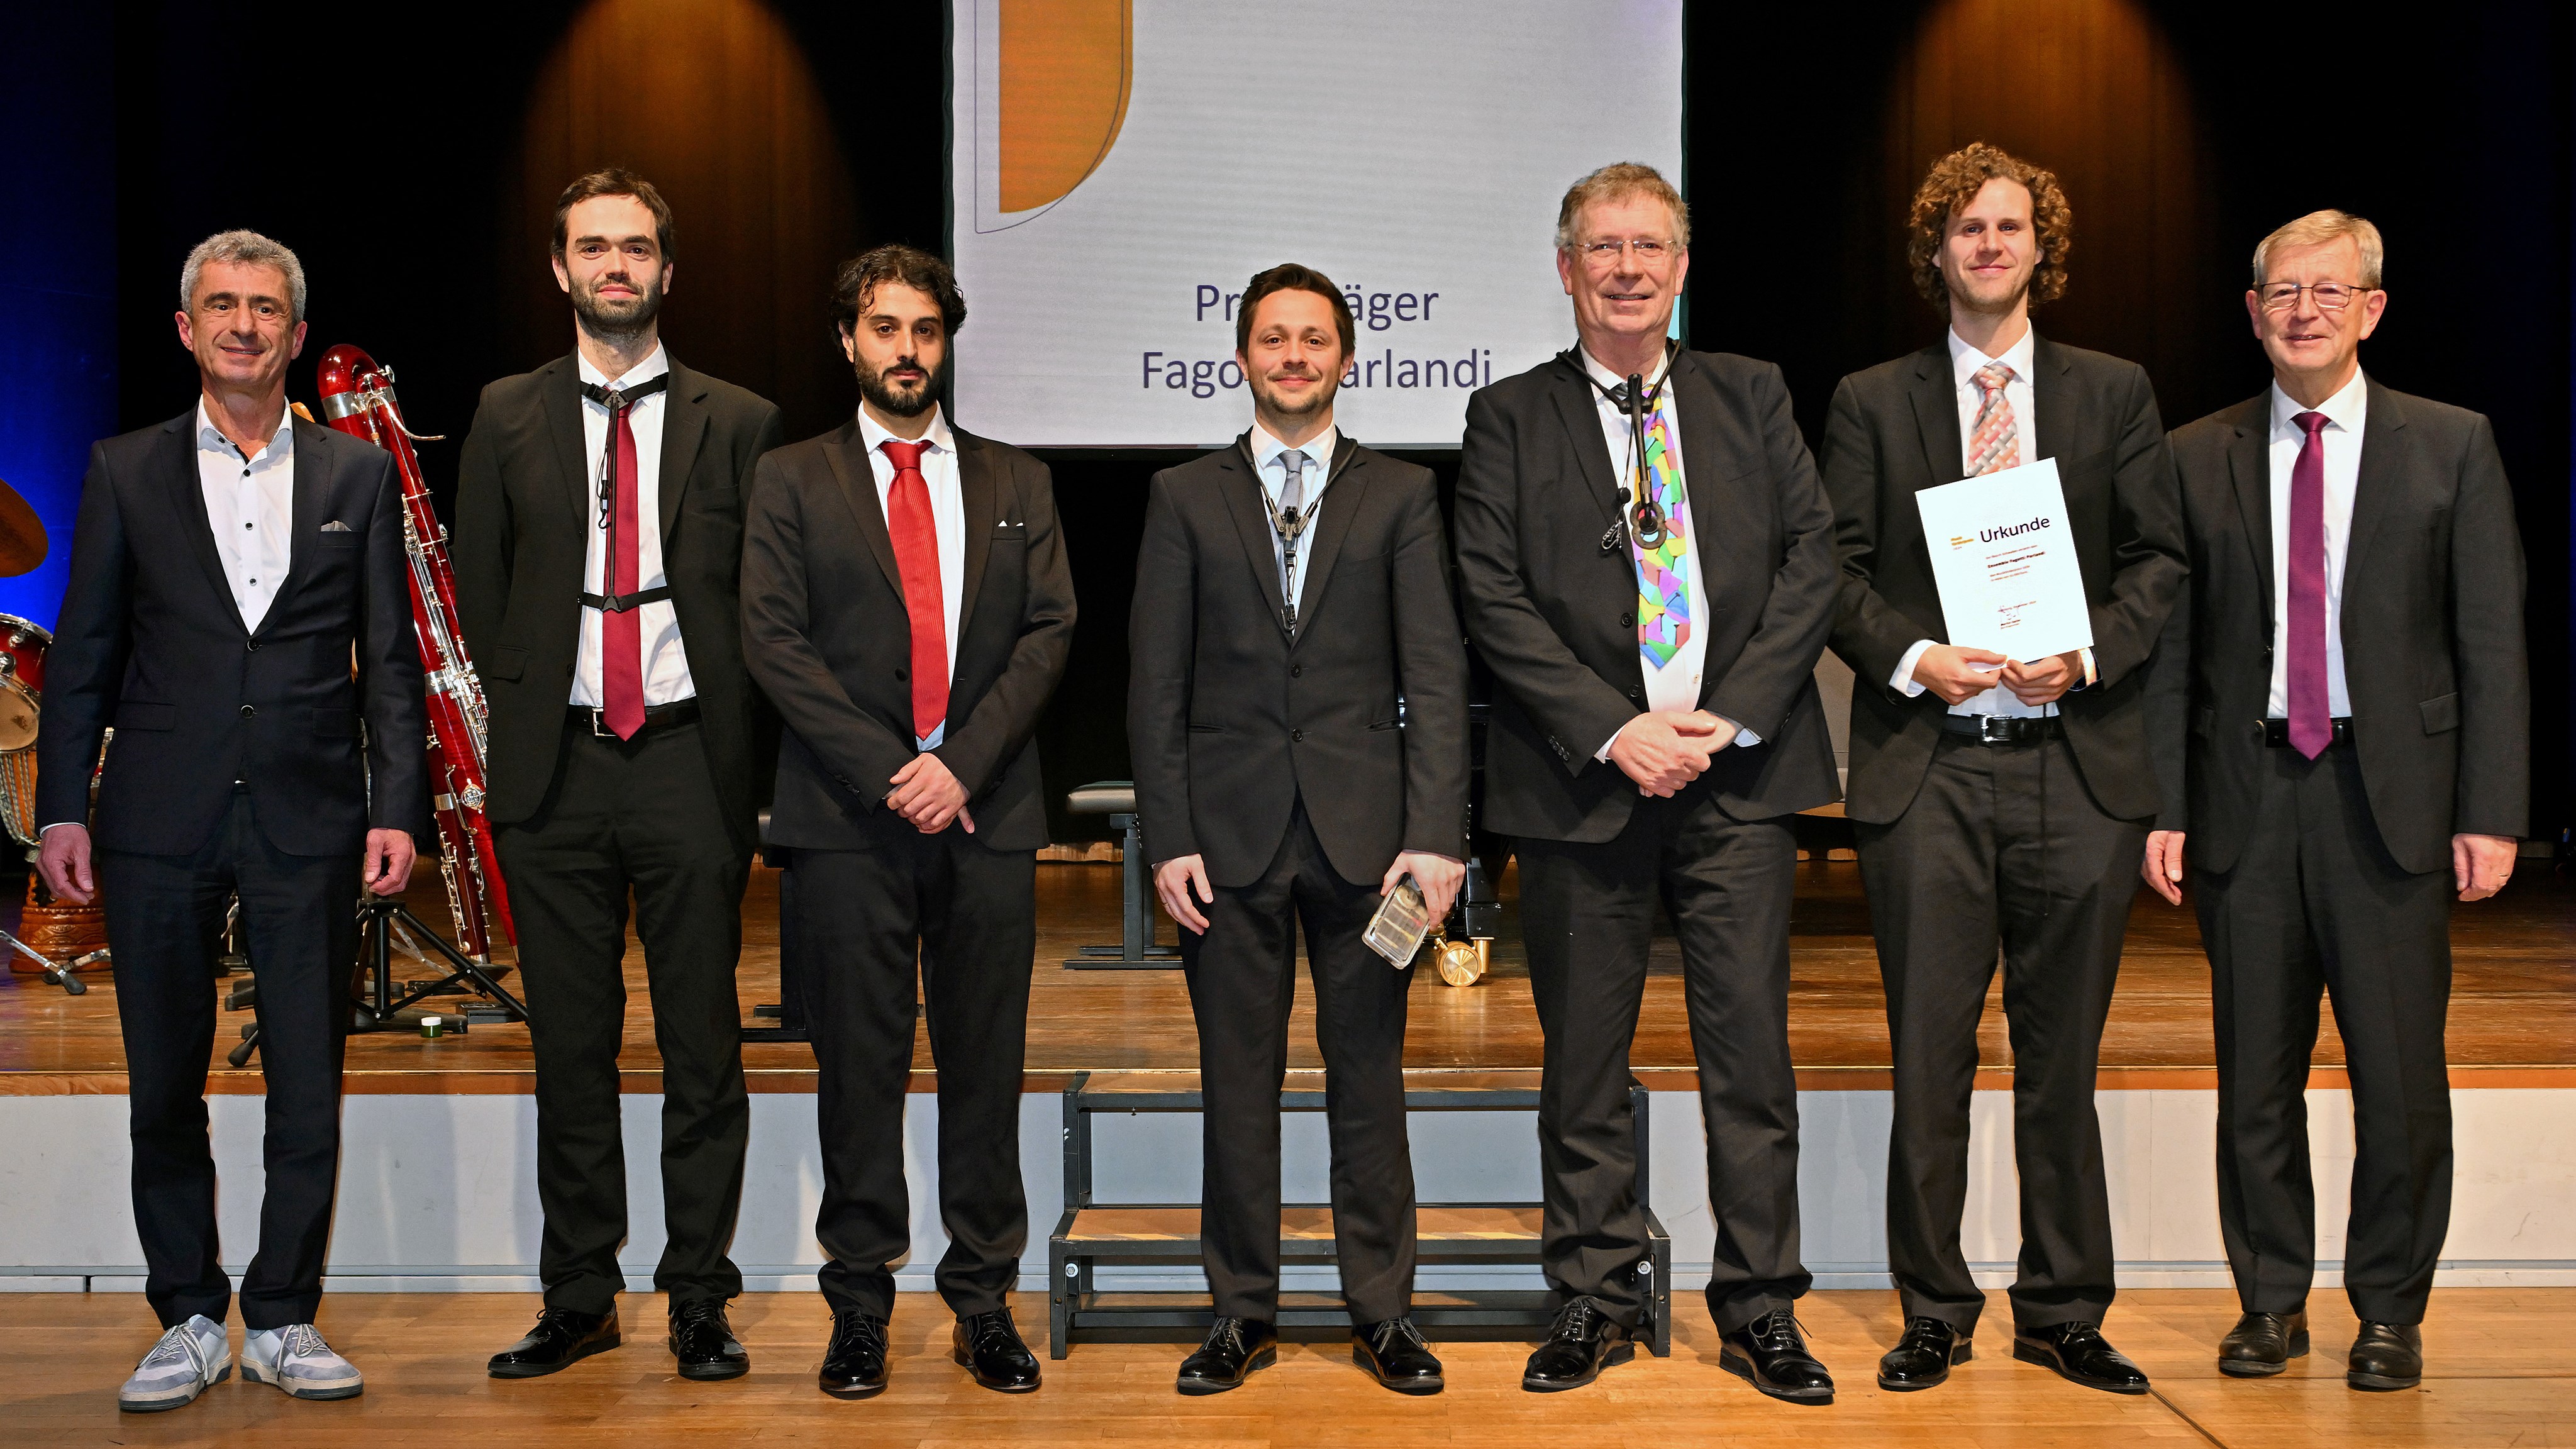
[[[894,1318],[894,1263],[912,1248],[904,1091],[914,975],[940,1085],[940,1297],[961,1318],[1010,1305],[1028,1248],[1020,1186],[1020,1065],[1038,954],[1038,853],[987,851],[963,828],[886,830],[873,851],[788,859],[778,923],[804,962],[806,1029],[822,1067],[822,1212],[832,1312]],[[914,969],[914,959],[920,967]]]

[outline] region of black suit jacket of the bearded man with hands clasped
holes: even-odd
[[[974,838],[1046,843],[1038,714],[1074,639],[1074,575],[1046,464],[953,428],[966,583],[948,735],[930,750],[966,786]],[[907,835],[884,807],[914,758],[912,614],[858,420],[760,459],[742,539],[742,647],[778,743],[773,846],[855,851]]]

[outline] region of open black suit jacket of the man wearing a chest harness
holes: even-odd
[[[750,851],[773,745],[742,670],[742,500],[778,446],[778,407],[670,364],[662,418],[662,572],[680,616],[698,732],[734,846]],[[590,467],[582,369],[572,356],[482,392],[456,464],[456,611],[489,706],[484,812],[536,815],[564,753],[572,660],[582,642]]]

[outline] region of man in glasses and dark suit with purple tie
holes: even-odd
[[[2357,1390],[2424,1374],[2450,1230],[2450,900],[2514,871],[2530,810],[2522,536],[2486,418],[2380,387],[2380,232],[2313,211],[2254,248],[2262,397],[2174,433],[2192,583],[2164,632],[2146,882],[2192,905],[2218,1026],[2218,1227],[2236,1377],[2308,1351],[2308,1057],[2352,1075],[2344,1292]]]

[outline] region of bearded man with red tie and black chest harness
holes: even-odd
[[[750,1359],[724,1305],[742,1199],[742,887],[768,755],[742,670],[742,498],[778,407],[662,348],[670,206],[600,170],[554,204],[574,351],[484,389],[456,469],[456,606],[492,712],[495,825],[536,1047],[536,1330],[551,1374],[618,1343],[626,1284],[626,895],[662,1049],[662,1220],[680,1374]]]

